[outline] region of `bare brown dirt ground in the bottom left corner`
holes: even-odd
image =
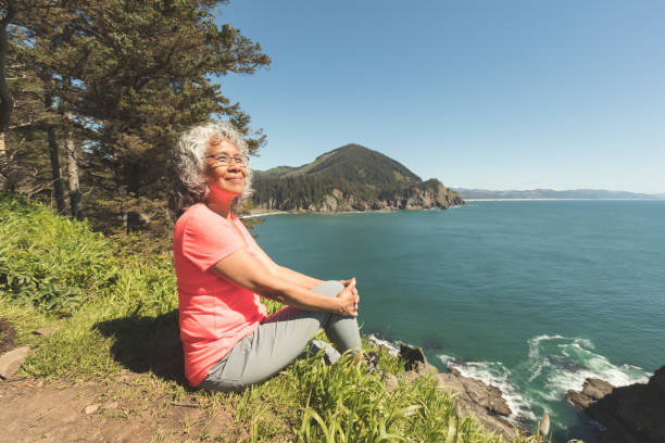
[[[151,395],[146,375],[74,383],[0,380],[0,442],[235,442],[237,429],[223,406]]]

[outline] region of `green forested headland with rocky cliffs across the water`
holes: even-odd
[[[360,144],[326,152],[300,167],[255,172],[259,208],[343,212],[464,204],[440,181],[421,180],[401,163]]]

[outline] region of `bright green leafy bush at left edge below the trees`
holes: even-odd
[[[68,315],[111,284],[111,244],[86,223],[0,194],[0,290],[21,304]]]

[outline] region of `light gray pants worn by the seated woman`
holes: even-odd
[[[330,280],[312,290],[336,296],[342,289],[339,281]],[[240,340],[211,368],[199,388],[238,391],[260,383],[293,362],[321,328],[339,352],[360,351],[361,339],[355,318],[287,306],[266,317],[254,333]]]

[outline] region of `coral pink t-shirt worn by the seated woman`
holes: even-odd
[[[210,270],[240,248],[256,254],[254,239],[235,215],[229,223],[208,206],[196,204],[175,225],[173,251],[180,339],[185,377],[192,387],[203,381],[210,368],[265,318],[266,309],[259,295]]]

